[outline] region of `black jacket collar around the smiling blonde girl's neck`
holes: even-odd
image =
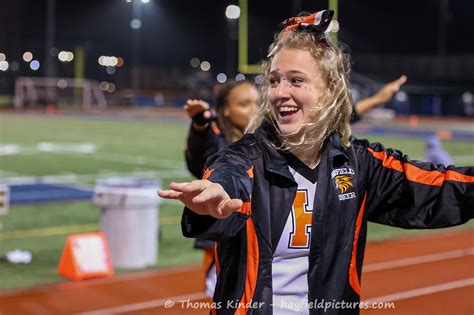
[[[262,125],[255,131],[255,138],[259,145],[263,146],[263,159],[265,162],[265,170],[274,174],[281,175],[288,179],[293,179],[288,169],[288,162],[285,153],[277,149],[273,143],[278,144],[277,135],[273,127],[268,122],[263,122]],[[331,134],[323,145],[321,158],[329,157],[332,161],[332,167],[340,166],[349,161],[347,150],[341,145],[341,137],[337,133]]]

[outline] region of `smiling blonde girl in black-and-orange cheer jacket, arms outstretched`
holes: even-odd
[[[159,192],[186,206],[185,236],[217,242],[214,313],[358,314],[367,221],[439,228],[473,217],[472,167],[351,137],[350,68],[326,39],[331,19],[283,23],[252,133],[214,156],[205,179]]]

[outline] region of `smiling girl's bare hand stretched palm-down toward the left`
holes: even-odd
[[[177,199],[197,214],[218,219],[227,218],[243,204],[240,199],[230,199],[221,185],[208,180],[171,183],[170,189],[158,191],[158,196]]]

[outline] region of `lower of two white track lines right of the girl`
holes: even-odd
[[[433,293],[459,289],[463,287],[469,287],[474,285],[474,278],[468,278],[458,281],[446,282],[429,287],[418,288],[409,291],[402,291],[394,294],[388,294],[384,296],[375,297],[372,299],[365,300],[366,303],[378,303],[378,302],[394,302],[405,299],[411,299],[418,296],[429,295]]]

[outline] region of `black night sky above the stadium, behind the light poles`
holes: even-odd
[[[448,1],[448,0],[446,0]],[[142,63],[161,67],[189,66],[190,58],[207,59],[225,70],[230,0],[150,0],[143,6],[140,30]],[[436,54],[440,0],[340,0],[340,39],[353,54]],[[273,32],[297,7],[313,11],[326,1],[249,0],[249,56],[265,56]],[[125,0],[56,0],[56,46],[86,47],[88,58],[120,55],[129,60],[133,30],[132,6]],[[450,0],[447,20],[448,54],[474,52],[474,1]],[[32,50],[44,53],[46,0],[2,0],[0,51],[10,55]],[[20,58],[20,57],[19,57]],[[18,59],[19,59],[18,58]]]

